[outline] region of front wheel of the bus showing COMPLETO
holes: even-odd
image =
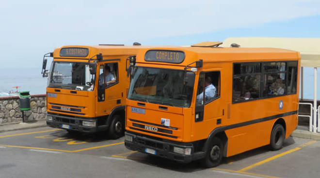
[[[205,167],[216,167],[218,166],[223,158],[223,144],[220,138],[214,137],[210,140],[209,147],[207,149],[206,157],[202,160]]]

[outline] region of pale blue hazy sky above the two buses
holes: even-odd
[[[41,69],[62,45],[320,38],[320,0],[1,0],[0,69]]]

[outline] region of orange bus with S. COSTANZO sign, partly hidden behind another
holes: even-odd
[[[129,78],[127,58],[141,45],[70,45],[56,48],[47,87],[47,124],[69,133],[108,131],[116,139],[125,130]],[[47,59],[44,57],[43,74]]]

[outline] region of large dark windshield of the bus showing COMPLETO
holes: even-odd
[[[191,71],[135,67],[128,99],[147,103],[190,107],[194,84]]]

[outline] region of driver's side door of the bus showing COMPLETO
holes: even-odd
[[[201,72],[199,76],[196,106],[195,106],[195,132],[210,133],[213,128],[220,127],[224,122],[224,103],[221,99],[221,69]]]

